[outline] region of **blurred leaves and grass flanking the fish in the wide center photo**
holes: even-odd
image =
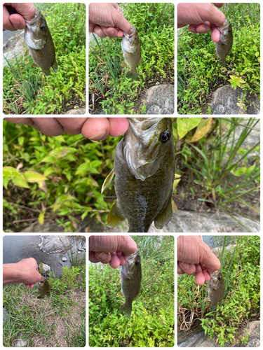
[[[259,118],[173,118],[173,200],[179,209],[195,202],[197,211],[259,221],[259,142],[244,144],[258,123]],[[46,137],[4,121],[4,231],[46,221],[59,223],[63,232],[92,231],[94,221],[104,225],[116,195],[113,184],[103,195],[101,188],[119,140]]]

